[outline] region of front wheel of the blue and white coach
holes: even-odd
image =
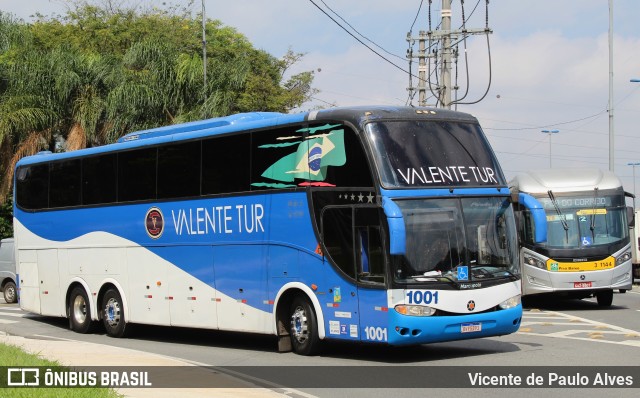
[[[309,300],[296,296],[291,303],[291,344],[300,355],[314,355],[320,348],[318,323]]]

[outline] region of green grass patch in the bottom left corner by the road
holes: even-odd
[[[6,367],[30,367],[30,366],[46,366],[46,367],[62,367],[60,363],[56,361],[50,361],[43,359],[38,355],[29,354],[22,349],[7,344],[0,344],[0,371],[7,372]],[[63,367],[66,368],[66,367]],[[5,369],[5,370],[3,370]],[[40,380],[42,382],[44,375],[40,374]],[[7,374],[0,374],[1,385],[6,385]],[[79,387],[79,388],[67,388],[67,387],[0,387],[0,397],[2,398],[40,398],[40,397],[52,397],[52,398],[122,398],[123,395],[118,394],[116,391],[110,388],[103,387]]]

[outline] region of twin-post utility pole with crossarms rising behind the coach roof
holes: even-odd
[[[429,0],[429,14],[431,14],[431,2],[432,0]],[[451,84],[451,65],[454,54],[452,43],[458,42],[460,37],[465,38],[470,35],[492,33],[488,26],[484,29],[467,29],[463,25],[461,30],[452,30],[451,16],[451,0],[442,0],[440,29],[431,30],[431,15],[429,15],[428,31],[421,30],[417,39],[411,37],[410,33],[407,35],[409,43],[418,42],[418,55],[414,56],[412,51],[408,51],[407,58],[409,58],[409,62],[412,62],[414,58],[418,58],[418,88],[414,89],[410,85],[408,90],[411,94],[414,90],[418,91],[419,106],[427,105],[427,92],[430,91],[437,98],[437,106],[451,109],[451,91],[453,88]],[[427,42],[429,43],[428,48]],[[436,65],[438,60],[440,62],[439,81],[435,88],[429,73],[431,72],[432,59],[436,60],[434,61]]]

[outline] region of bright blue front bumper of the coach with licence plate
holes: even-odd
[[[522,305],[492,312],[453,316],[407,316],[389,311],[390,345],[416,345],[514,333],[522,320]]]

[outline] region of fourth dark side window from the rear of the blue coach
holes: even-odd
[[[118,155],[118,201],[156,198],[156,148]]]

